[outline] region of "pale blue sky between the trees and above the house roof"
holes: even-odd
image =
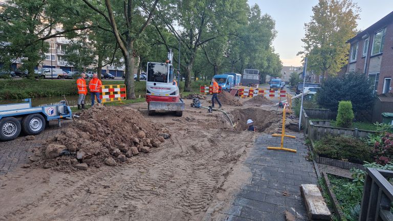
[[[358,29],[364,30],[393,11],[393,0],[353,0],[360,7]],[[249,5],[258,4],[262,13],[276,21],[277,37],[273,41],[275,52],[284,66],[302,66],[301,57],[304,23],[309,23],[312,7],[318,0],[248,0]],[[377,13],[376,13],[377,12]]]

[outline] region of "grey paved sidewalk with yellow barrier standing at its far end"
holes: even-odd
[[[317,176],[312,162],[305,160],[308,148],[303,145],[303,134],[296,139],[285,138],[284,147],[297,152],[268,150],[279,146],[280,138],[260,135],[244,164],[252,177],[243,183],[234,195],[229,209],[223,211],[225,220],[285,220],[288,210],[297,220],[308,220],[300,184],[316,184]]]

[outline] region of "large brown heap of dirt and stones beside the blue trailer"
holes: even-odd
[[[61,171],[115,166],[157,148],[170,134],[127,107],[93,106],[79,120],[48,140],[30,158],[43,168]]]

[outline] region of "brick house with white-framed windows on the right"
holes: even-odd
[[[364,73],[378,95],[393,92],[393,12],[347,41],[351,44],[346,72]]]

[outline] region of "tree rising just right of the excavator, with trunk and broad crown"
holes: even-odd
[[[161,20],[166,24],[184,52],[182,67],[185,69],[185,90],[191,90],[192,67],[198,50],[205,43],[234,32],[237,20],[247,14],[245,0],[187,0],[173,1],[170,8],[161,9]],[[176,21],[179,30],[172,24]],[[164,40],[164,39],[163,39]],[[173,42],[164,41],[167,48],[177,49]]]

